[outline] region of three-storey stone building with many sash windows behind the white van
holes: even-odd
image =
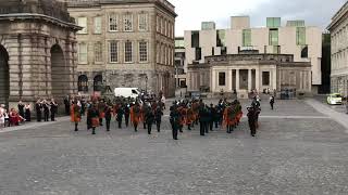
[[[78,90],[175,92],[175,8],[166,0],[67,0],[78,26]]]

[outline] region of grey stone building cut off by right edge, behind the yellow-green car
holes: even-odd
[[[348,2],[333,16],[331,32],[331,91],[348,95]]]

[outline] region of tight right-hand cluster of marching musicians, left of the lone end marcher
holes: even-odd
[[[185,126],[191,130],[198,123],[202,136],[213,131],[214,127],[226,128],[227,133],[232,133],[243,117],[241,105],[237,100],[233,102],[220,100],[215,106],[213,104],[208,106],[202,100],[175,101],[170,109],[174,140],[177,140],[178,131],[183,132]]]

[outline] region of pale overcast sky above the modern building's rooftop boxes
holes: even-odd
[[[309,26],[322,29],[346,0],[169,0],[175,5],[176,36],[184,30],[200,29],[202,21],[213,21],[216,28],[229,28],[229,16],[249,15],[252,27],[265,26],[265,18],[279,16],[306,20]]]

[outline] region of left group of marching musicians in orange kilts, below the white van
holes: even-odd
[[[123,127],[123,118],[125,127],[129,126],[129,120],[134,130],[138,131],[139,123],[144,123],[144,129],[151,134],[153,123],[157,125],[157,131],[161,130],[161,121],[163,116],[164,105],[161,101],[153,103],[140,104],[136,100],[117,99],[111,102],[110,100],[94,100],[87,102],[87,130],[92,130],[96,134],[96,128],[105,123],[107,131],[110,131],[111,119],[115,117],[117,127]],[[71,107],[71,120],[75,123],[75,131],[78,131],[78,125],[82,120],[80,103],[74,100]]]

